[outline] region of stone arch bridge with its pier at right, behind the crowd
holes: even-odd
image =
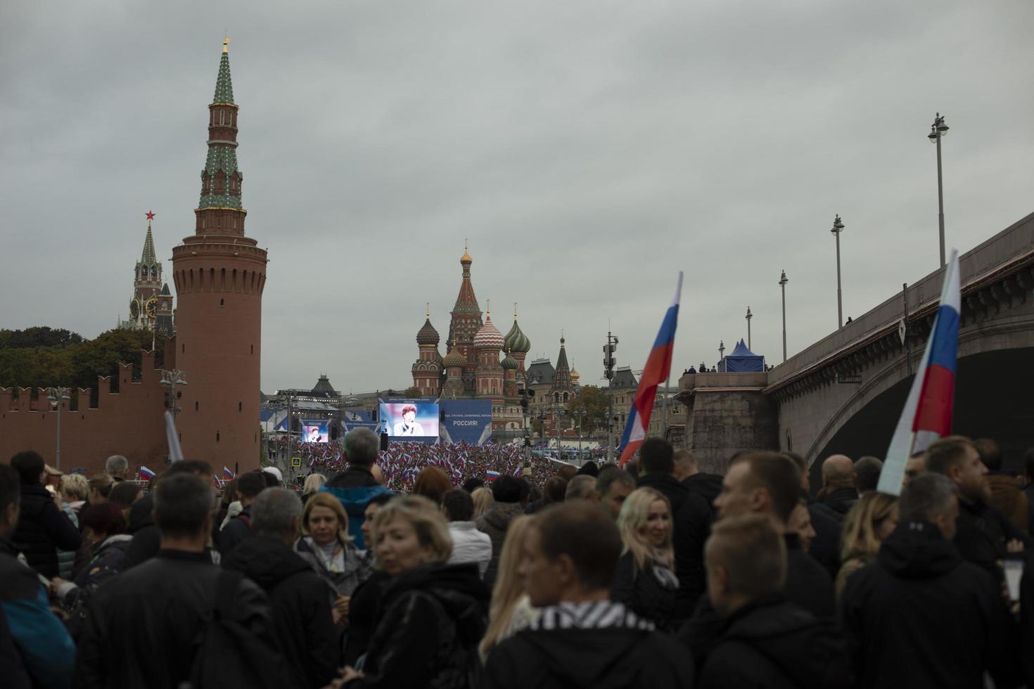
[[[1034,213],[960,256],[955,432],[1034,447]],[[935,271],[765,373],[689,374],[686,444],[724,471],[740,449],[882,458],[940,301]]]

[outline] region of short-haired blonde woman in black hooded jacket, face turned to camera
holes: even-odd
[[[377,560],[391,575],[362,671],[346,667],[347,689],[467,689],[480,662],[488,589],[475,564],[447,565],[449,527],[422,496],[395,498],[373,522]]]

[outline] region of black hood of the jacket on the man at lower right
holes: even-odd
[[[877,555],[889,572],[906,578],[932,578],[957,567],[963,559],[954,543],[930,522],[902,522]]]

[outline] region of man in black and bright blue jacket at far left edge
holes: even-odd
[[[0,465],[0,667],[5,687],[70,687],[75,646],[51,612],[36,573],[10,542],[18,525],[21,479]]]

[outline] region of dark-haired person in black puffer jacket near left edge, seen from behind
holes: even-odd
[[[60,495],[43,487],[43,458],[28,450],[10,460],[10,467],[22,481],[22,511],[11,536],[14,547],[26,562],[48,580],[58,575],[58,549],[78,551],[83,540],[79,529],[58,506]]]

